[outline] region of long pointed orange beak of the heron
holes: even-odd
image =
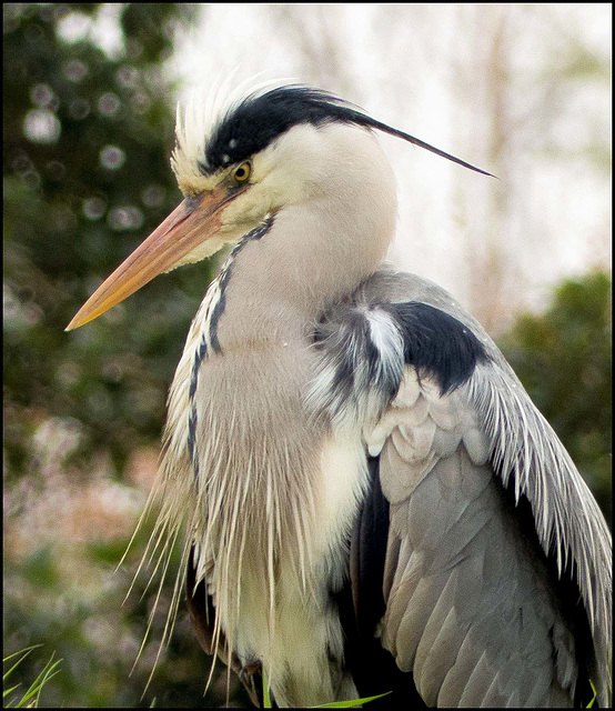
[[[220,229],[224,207],[240,192],[229,192],[220,184],[195,198],[185,198],[94,291],[65,330],[92,321],[213,237]]]

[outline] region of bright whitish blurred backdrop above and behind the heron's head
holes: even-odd
[[[169,64],[333,91],[495,173],[382,136],[399,181],[396,264],[487,327],[611,259],[611,6],[203,6]]]

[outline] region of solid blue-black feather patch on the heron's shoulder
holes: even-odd
[[[404,360],[419,373],[435,375],[442,394],[463,384],[487,359],[481,341],[461,321],[420,301],[390,303],[404,340]]]

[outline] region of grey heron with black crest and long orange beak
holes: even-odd
[[[171,617],[185,590],[255,702],[266,672],[282,707],[608,705],[603,514],[480,323],[386,262],[379,132],[486,172],[305,84],[179,108],[183,201],[68,327],[230,250],[151,499],[162,568],[181,547]]]

